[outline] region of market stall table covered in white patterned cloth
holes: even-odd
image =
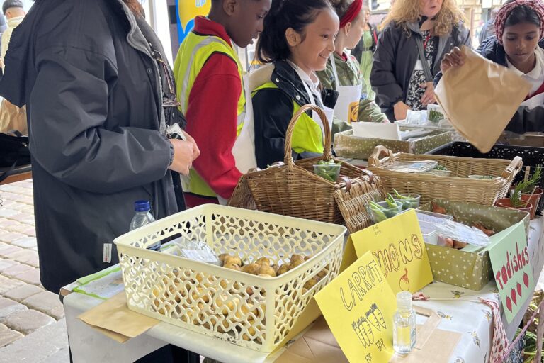
[[[529,234],[529,251],[533,264],[533,277],[536,281],[538,281],[544,265],[543,223],[544,218],[542,217],[532,220]],[[103,281],[103,286],[105,286],[103,289],[104,291],[109,290],[109,295],[116,294],[123,289],[120,286],[120,272],[115,267],[111,271],[113,271],[111,274],[103,274],[102,277],[94,281],[98,284]],[[268,355],[244,347],[237,347],[225,341],[164,322],[158,323],[146,333],[120,344],[77,319],[79,314],[104,301],[101,298],[77,291],[70,293],[74,289],[81,291],[78,289],[79,285],[76,282],[65,286],[62,293],[65,295],[63,299],[64,311],[74,363],[133,362],[166,344],[177,345],[224,363],[271,363],[285,350],[285,347],[282,347]],[[421,292],[429,300],[414,301],[414,304],[436,311],[442,318],[438,328],[462,334],[462,339],[455,348],[450,362],[487,362],[491,348],[493,321],[491,309],[480,303],[479,298],[499,301],[494,281],[490,281],[481,291],[433,282]],[[528,303],[529,301],[526,301],[519,315],[509,325],[506,325],[503,315],[510,339],[514,336]],[[419,323],[422,323],[423,319],[418,315]]]

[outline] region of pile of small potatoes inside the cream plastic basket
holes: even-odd
[[[304,263],[312,256],[292,255],[289,262],[284,264],[273,264],[267,257],[261,257],[255,262],[242,262],[237,256],[222,254],[220,260],[223,267],[254,274],[260,277],[272,278],[285,274]],[[302,294],[317,284],[326,276],[328,270],[323,269],[312,279],[305,282]],[[247,286],[247,298],[241,296],[238,283],[229,284],[227,279],[220,279],[209,274],[196,273],[193,277],[184,276],[181,272],[169,273],[162,277],[166,291],[155,287],[152,290],[152,307],[162,315],[172,316],[172,312],[181,315],[181,320],[193,325],[203,325],[210,330],[217,330],[220,333],[234,333],[235,331],[244,340],[256,340],[261,342],[261,337],[255,337],[256,329],[264,329],[266,320],[264,313],[264,292],[254,294],[257,288]],[[229,286],[231,286],[229,288]],[[259,308],[260,307],[260,308]],[[288,311],[287,309],[284,310]],[[209,319],[206,321],[206,317]],[[261,321],[259,321],[261,320]],[[246,327],[246,333],[242,333],[240,325]]]

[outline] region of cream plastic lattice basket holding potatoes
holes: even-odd
[[[234,345],[272,352],[312,296],[339,273],[344,233],[341,225],[205,205],[157,220],[114,242],[131,310]],[[179,234],[208,243],[217,255],[231,253],[242,261],[268,257],[280,264],[294,253],[312,257],[285,274],[266,278],[146,249]],[[314,285],[307,289],[310,280]]]

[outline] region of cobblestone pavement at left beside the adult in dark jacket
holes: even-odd
[[[40,284],[32,181],[0,186],[0,363],[67,363],[59,296]]]

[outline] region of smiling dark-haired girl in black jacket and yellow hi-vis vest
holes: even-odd
[[[261,169],[283,160],[285,133],[293,114],[305,104],[329,106],[329,127],[336,91],[320,89],[315,72],[334,52],[339,18],[329,0],[275,0],[257,43],[265,66],[250,76],[255,156]],[[331,97],[332,96],[332,97]],[[324,126],[316,113],[305,113],[293,132],[293,158],[323,153]]]

